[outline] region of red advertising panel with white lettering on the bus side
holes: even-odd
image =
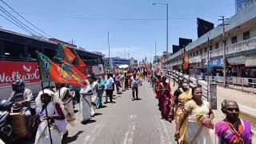
[[[10,86],[16,79],[24,79],[26,83],[40,82],[37,62],[0,61],[0,86]]]

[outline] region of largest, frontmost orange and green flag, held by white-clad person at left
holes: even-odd
[[[50,77],[56,83],[68,83],[74,86],[84,86],[85,76],[78,73],[78,70],[69,63],[63,62],[62,66],[58,66],[47,58],[44,54],[36,52],[38,55],[39,70],[41,72],[42,82]]]

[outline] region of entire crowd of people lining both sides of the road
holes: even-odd
[[[68,135],[67,125],[74,126],[76,119],[74,97],[79,97],[76,99],[79,103],[80,121],[86,122],[94,117],[97,109],[102,108],[107,102],[114,102],[114,87],[117,94],[131,89],[132,101],[139,100],[138,88],[142,86],[142,82],[149,82],[152,86],[155,98],[158,99],[158,109],[161,111],[162,119],[175,123],[174,138],[178,143],[210,144],[214,143],[216,138],[219,143],[250,144],[252,142],[250,122],[239,118],[238,103],[234,100],[222,102],[222,113],[226,118],[214,122],[214,112],[210,108],[210,103],[202,98],[200,86],[191,88],[190,82],[182,79],[178,89],[172,93],[166,76],[158,75],[154,70],[140,68],[115,71],[114,74],[106,74],[105,77],[88,74],[84,87],[78,90],[70,90],[63,83],[55,83],[54,89],[40,91],[35,98],[36,112],[41,121],[35,143],[43,144],[50,141],[54,144],[62,143],[62,139]],[[32,94],[24,87],[25,84],[21,80],[14,82],[14,92],[10,97],[14,105],[25,105],[31,101]],[[15,96],[21,91],[24,97]]]

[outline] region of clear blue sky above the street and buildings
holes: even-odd
[[[53,38],[65,42],[73,40],[85,50],[100,51],[108,57],[109,32],[110,57],[128,58],[130,54],[139,61],[146,57],[149,62],[154,59],[154,41],[157,42],[157,55],[166,50],[166,6],[153,6],[152,3],[169,4],[170,52],[172,45],[178,45],[178,38],[192,38],[193,41],[198,38],[196,18],[218,26],[218,16],[230,18],[235,12],[234,0],[3,1]],[[11,12],[1,1],[0,6]],[[0,26],[28,34],[2,17]]]

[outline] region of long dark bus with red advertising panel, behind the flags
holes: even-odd
[[[38,94],[42,87],[35,51],[38,50],[54,60],[58,49],[57,44],[58,42],[52,39],[35,38],[0,28],[0,99],[10,97],[11,84],[18,78],[26,81],[26,88],[33,94]],[[104,73],[102,54],[89,52],[74,45],[69,47],[77,50],[79,57],[86,63],[87,74]],[[44,86],[47,85],[49,83],[44,82]]]

